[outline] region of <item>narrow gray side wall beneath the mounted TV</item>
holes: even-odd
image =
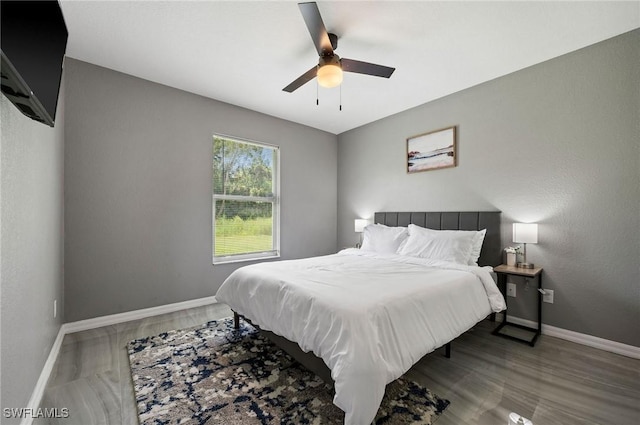
[[[63,93],[55,128],[0,96],[2,408],[27,405],[63,319]]]

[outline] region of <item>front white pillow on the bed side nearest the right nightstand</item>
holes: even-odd
[[[409,225],[409,238],[398,250],[400,255],[469,264],[476,232],[432,230]]]

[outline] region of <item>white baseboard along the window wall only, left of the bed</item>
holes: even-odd
[[[124,313],[110,314],[108,316],[94,317],[92,319],[79,320],[77,322],[65,323],[65,333],[73,333],[96,329],[102,326],[117,325],[118,323],[130,322],[132,320],[145,319],[147,317],[158,316],[174,311],[186,310],[188,308],[202,307],[208,304],[215,304],[216,297],[197,298],[195,300],[183,301],[173,304],[165,304],[157,307],[144,308],[141,310],[127,311]]]

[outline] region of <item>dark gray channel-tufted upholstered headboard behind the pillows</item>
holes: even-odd
[[[415,224],[434,230],[487,229],[478,265],[497,266],[502,263],[500,214],[500,211],[377,212],[374,216],[374,222],[386,226]]]

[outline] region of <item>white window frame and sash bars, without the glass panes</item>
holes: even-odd
[[[263,260],[269,258],[280,258],[280,146],[271,143],[258,142],[255,140],[244,139],[236,136],[228,136],[226,134],[214,133],[211,139],[211,172],[213,173],[213,154],[215,138],[226,139],[232,142],[244,143],[248,145],[258,146],[260,148],[273,149],[275,155],[273,159],[272,171],[272,193],[271,196],[250,196],[250,195],[218,195],[215,193],[214,176],[211,178],[211,259],[212,264],[228,264],[244,261]],[[230,254],[216,256],[216,200],[241,201],[241,202],[270,202],[271,209],[271,239],[272,249],[269,251],[259,251],[244,254]]]

